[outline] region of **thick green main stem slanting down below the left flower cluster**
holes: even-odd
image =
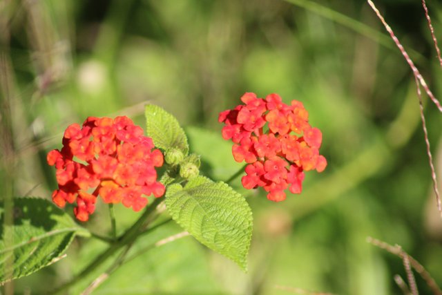
[[[57,289],[55,289],[52,294],[61,294],[64,290],[68,289],[70,286],[77,283],[79,280],[86,278],[88,274],[93,272],[97,267],[102,265],[104,261],[106,261],[109,257],[113,256],[115,252],[124,247],[125,245],[130,244],[131,242],[134,242],[138,238],[138,234],[142,226],[144,225],[144,222],[146,222],[147,218],[151,215],[151,213],[155,210],[155,208],[162,202],[162,198],[155,198],[155,201],[151,204],[151,206],[146,208],[146,211],[144,211],[143,215],[138,218],[137,222],[135,222],[132,227],[130,227],[122,236],[120,236],[117,239],[117,242],[110,245],[108,249],[106,249],[101,255],[99,255],[95,260],[93,260],[92,263],[90,263],[86,268],[83,269],[77,276],[75,276],[72,280],[65,283],[64,285],[61,285]]]

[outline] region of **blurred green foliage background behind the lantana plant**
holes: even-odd
[[[429,2],[441,36],[442,4]],[[442,97],[421,1],[376,5]],[[186,237],[127,263],[93,294],[402,294],[393,280],[405,280],[401,259],[367,236],[401,245],[442,285],[442,220],[414,79],[365,1],[2,0],[0,28],[0,185],[14,196],[50,198],[56,182],[46,153],[61,146],[68,124],[128,115],[144,126],[147,103],[180,120],[203,173],[216,180],[241,166],[220,136],[218,113],[246,91],[302,101],[323,131],[329,166],[307,173],[300,196],[274,203],[241,189],[240,178],[233,184],[253,208],[248,274]],[[442,116],[425,105],[441,174]],[[105,207],[92,217],[86,227],[109,231]],[[119,231],[135,218],[117,206]],[[141,244],[180,231],[170,224]],[[67,258],[16,280],[15,292],[44,294],[104,246],[77,239]]]

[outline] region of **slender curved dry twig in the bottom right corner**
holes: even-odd
[[[396,256],[399,256],[403,258],[404,255],[407,256],[408,260],[410,260],[410,265],[414,268],[414,270],[425,280],[425,283],[427,283],[428,287],[432,289],[433,294],[435,295],[442,295],[442,290],[439,288],[439,286],[436,284],[436,281],[429,272],[412,256],[408,255],[403,249],[399,246],[392,246],[387,244],[386,242],[383,242],[381,240],[377,240],[376,238],[367,237],[367,242],[371,243],[372,245],[379,247],[381,249],[384,249],[386,251],[389,251],[391,254],[394,254]]]

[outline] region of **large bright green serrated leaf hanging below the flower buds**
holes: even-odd
[[[189,234],[247,272],[253,220],[249,204],[239,193],[224,182],[198,176],[184,188],[168,187],[165,202],[172,218]]]

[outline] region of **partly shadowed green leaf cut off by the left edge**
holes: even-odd
[[[64,253],[74,236],[89,236],[68,214],[41,198],[15,198],[13,225],[5,225],[0,202],[0,282],[28,276]],[[12,269],[6,273],[6,263]]]

